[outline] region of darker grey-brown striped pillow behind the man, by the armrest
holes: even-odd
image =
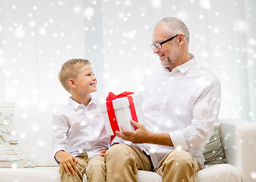
[[[212,137],[210,137],[208,143],[203,146],[203,155],[206,160],[204,165],[226,164],[223,146],[219,137],[219,124],[216,124]]]

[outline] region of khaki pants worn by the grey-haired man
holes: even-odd
[[[152,171],[147,156],[138,148],[126,144],[110,147],[105,154],[107,182],[138,181],[138,169]],[[173,150],[165,155],[155,172],[162,176],[164,182],[194,181],[194,174],[200,171],[200,164],[190,153],[184,150]]]

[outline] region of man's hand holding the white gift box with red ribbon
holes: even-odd
[[[120,137],[123,140],[128,140],[133,143],[151,143],[150,142],[150,132],[146,130],[146,127],[143,124],[139,124],[136,121],[131,120],[133,126],[138,127],[137,130],[126,130],[124,127],[120,127],[123,130],[123,133],[116,131],[117,137]]]

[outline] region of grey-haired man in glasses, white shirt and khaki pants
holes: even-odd
[[[148,71],[142,82],[145,126],[131,121],[137,130],[117,132],[132,144],[107,150],[107,181],[137,181],[138,169],[155,171],[163,181],[194,181],[203,168],[201,146],[219,115],[220,83],[196,63],[189,39],[178,18],[165,17],[155,25],[152,49],[161,66]]]

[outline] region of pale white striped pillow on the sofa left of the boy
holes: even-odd
[[[14,129],[14,104],[0,104],[0,168],[35,167],[19,146]]]

